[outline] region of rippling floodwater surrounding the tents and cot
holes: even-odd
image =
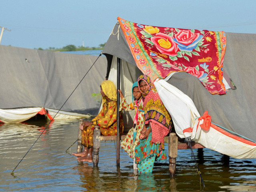
[[[190,150],[178,150],[173,178],[168,160],[157,163],[152,174],[135,176],[132,159],[122,150],[117,168],[116,142],[110,141],[101,142],[98,168],[78,163],[71,155],[76,143],[66,152],[77,139],[78,121],[55,120],[41,136],[45,120],[0,124],[0,191],[256,191],[255,159],[230,158],[225,164],[221,154],[209,149],[203,158],[193,150],[204,189]]]

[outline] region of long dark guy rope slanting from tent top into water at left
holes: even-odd
[[[100,55],[98,56],[98,58],[100,58],[100,56],[102,55],[102,52],[100,52]],[[92,64],[92,66],[94,66],[94,64],[96,63],[96,61],[98,60],[98,58],[94,61],[94,63]],[[88,74],[88,72],[91,70],[92,66],[89,68],[89,70],[86,72],[86,74],[84,75],[84,77],[80,80],[80,82],[78,83],[78,85],[76,86],[76,88],[78,88],[78,86],[80,85],[80,83],[82,82],[82,80],[85,78],[85,76]],[[34,142],[34,144],[38,141],[38,139],[40,138],[40,136],[44,133],[44,131],[49,127],[50,123],[54,120],[54,118],[56,117],[56,115],[60,112],[60,110],[62,109],[62,107],[66,104],[66,102],[68,101],[68,99],[71,97],[71,95],[74,93],[74,91],[76,90],[76,88],[72,91],[72,93],[70,94],[70,96],[68,96],[68,98],[66,99],[66,101],[64,102],[64,104],[60,107],[60,109],[58,110],[58,112],[54,115],[54,117],[50,120],[50,122],[47,124],[47,126],[44,128],[44,130],[42,131],[42,133],[39,135],[39,137],[36,139],[36,141]],[[31,150],[31,148],[34,146],[34,144],[32,144],[32,146],[30,147],[30,149],[26,152],[26,154],[23,156],[23,158],[20,160],[20,162],[22,162],[22,160],[24,159],[24,157],[28,154],[28,152]],[[18,165],[20,164],[20,162],[16,165],[16,167],[14,168],[14,170],[18,167]],[[14,170],[12,170],[11,175],[14,176]]]

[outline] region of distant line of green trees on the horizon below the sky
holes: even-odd
[[[84,50],[101,50],[104,48],[106,43],[100,44],[99,47],[83,47],[83,46],[78,46],[76,47],[75,45],[67,45],[62,48],[55,48],[55,47],[49,47],[48,49],[42,49],[38,48],[38,50],[48,50],[48,51],[84,51]],[[35,48],[36,49],[36,48]]]

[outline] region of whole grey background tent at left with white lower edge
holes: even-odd
[[[22,122],[40,110],[54,116],[97,58],[0,46],[0,121]],[[56,118],[98,113],[106,66],[100,56]]]

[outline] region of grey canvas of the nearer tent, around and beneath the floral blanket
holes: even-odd
[[[256,34],[227,32],[226,39],[227,46],[223,68],[236,86],[235,90],[228,90],[225,95],[212,95],[202,86],[198,78],[185,72],[175,73],[167,82],[178,88],[194,102],[200,116],[203,116],[204,112],[208,111],[208,114],[212,117],[212,123],[230,135],[251,142],[253,149],[248,152],[250,155],[234,155],[234,157],[256,158],[254,145],[256,141],[256,97],[254,90],[256,85],[254,70]],[[126,97],[130,97],[131,84],[137,80],[142,72],[136,67],[136,62],[119,22],[114,26],[112,34],[104,47],[103,54],[106,55],[108,60],[107,77],[113,81],[115,81],[112,76],[116,72],[116,58],[121,59],[121,88],[126,92]],[[171,111],[169,112],[171,114]],[[204,146],[207,145],[203,144]],[[218,144],[212,145],[216,146]],[[221,147],[227,148],[225,145]],[[208,148],[215,150],[211,146]],[[221,150],[219,151],[222,152]],[[222,153],[225,154],[225,152]]]

